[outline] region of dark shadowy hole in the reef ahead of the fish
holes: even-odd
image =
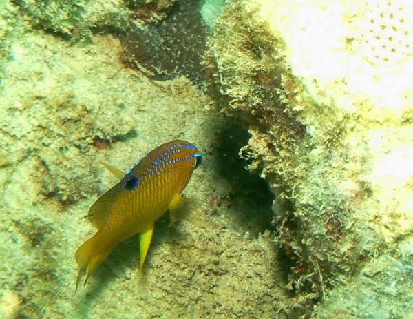
[[[218,174],[229,183],[229,214],[239,220],[244,231],[257,235],[266,229],[274,229],[271,205],[274,195],[266,181],[248,172],[250,163],[240,158],[241,147],[248,143],[249,134],[232,117],[227,118],[218,132],[215,161]]]

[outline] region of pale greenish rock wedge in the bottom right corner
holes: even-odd
[[[408,238],[366,263],[352,285],[332,290],[314,316],[328,318],[335,313],[337,318],[411,318],[412,269],[413,239]]]

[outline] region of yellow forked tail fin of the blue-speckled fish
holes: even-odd
[[[98,265],[105,260],[113,247],[114,245],[107,242],[107,236],[103,236],[100,232],[89,240],[86,240],[81,247],[78,247],[75,254],[76,262],[79,266],[79,272],[76,278],[76,290],[83,275],[86,275],[84,283],[84,285],[86,285],[87,279],[89,279]]]

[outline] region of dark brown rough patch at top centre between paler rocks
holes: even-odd
[[[162,21],[132,24],[120,36],[127,61],[156,80],[204,79],[206,26],[199,7],[198,0],[178,1]]]

